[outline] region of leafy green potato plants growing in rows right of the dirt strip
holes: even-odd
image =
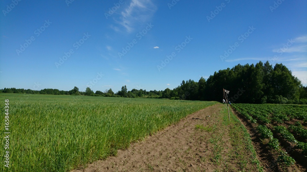
[[[286,166],[294,164],[295,160],[281,149],[280,141],[273,137],[273,133],[294,144],[302,150],[301,153],[305,157],[307,156],[306,105],[232,104],[232,107],[248,121],[256,124],[259,137],[268,139],[268,147],[278,152],[278,158]],[[272,130],[267,126],[272,126]]]

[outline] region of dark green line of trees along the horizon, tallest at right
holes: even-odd
[[[275,64],[274,68],[268,61],[254,64],[241,64],[214,72],[207,81],[201,77],[198,82],[183,80],[180,86],[164,91],[136,90],[128,91],[126,86],[117,93],[112,89],[96,91],[87,87],[84,92],[75,86],[70,91],[57,89],[25,90],[16,88],[1,89],[2,93],[55,94],[55,95],[86,95],[107,97],[147,97],[180,100],[221,101],[223,88],[229,90],[228,99],[231,103],[282,103],[307,104],[307,87],[292,75],[283,64]]]

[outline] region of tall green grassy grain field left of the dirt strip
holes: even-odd
[[[0,102],[0,131],[10,132],[10,168],[1,171],[69,171],[86,166],[216,103],[9,93],[0,93]]]

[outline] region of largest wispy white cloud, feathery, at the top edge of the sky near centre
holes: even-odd
[[[131,0],[129,5],[120,13],[119,20],[114,20],[125,27],[127,32],[131,32],[136,24],[146,23],[156,10],[157,7],[152,0]],[[111,28],[119,31],[118,27],[111,26]]]

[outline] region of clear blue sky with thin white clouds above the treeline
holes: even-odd
[[[307,86],[304,0],[3,0],[0,88],[173,89],[259,60]]]

